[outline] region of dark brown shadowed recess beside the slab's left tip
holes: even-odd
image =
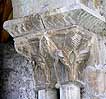
[[[12,37],[3,29],[3,23],[12,19],[13,9],[11,0],[0,0],[0,43],[12,40]]]

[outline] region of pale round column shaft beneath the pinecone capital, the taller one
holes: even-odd
[[[74,83],[61,85],[60,99],[80,99],[80,86]]]

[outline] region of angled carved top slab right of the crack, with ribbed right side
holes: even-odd
[[[82,4],[47,11],[43,13],[42,19],[48,30],[59,30],[73,24],[96,33],[105,29],[105,18]]]

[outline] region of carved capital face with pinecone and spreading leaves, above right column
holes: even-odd
[[[68,69],[69,80],[78,80],[78,75],[89,58],[92,38],[89,34],[77,29],[74,31],[69,30],[69,32],[65,31],[67,32],[65,37],[61,32],[64,31],[54,33],[54,36],[49,40],[52,42],[50,47],[52,47],[54,51],[50,50],[48,52],[54,53],[55,56],[53,58],[54,62],[56,62],[56,66],[61,62]],[[63,35],[62,38],[65,38],[63,42],[65,44],[62,44],[64,46],[61,46],[58,41],[59,38],[61,38],[59,35]],[[68,41],[70,41],[70,44],[68,44]]]

